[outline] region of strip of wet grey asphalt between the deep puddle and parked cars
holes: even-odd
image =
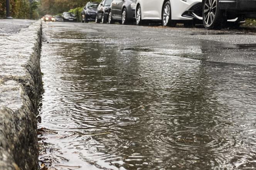
[[[135,51],[187,57],[213,62],[256,63],[256,30],[206,30],[204,28],[138,27],[95,23],[44,23],[63,31],[97,32],[95,41]],[[199,26],[202,27],[202,26]]]

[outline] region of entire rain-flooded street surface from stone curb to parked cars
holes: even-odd
[[[40,164],[255,169],[256,38],[243,34],[43,23]]]

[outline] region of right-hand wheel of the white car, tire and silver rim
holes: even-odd
[[[172,10],[170,1],[165,2],[162,9],[162,24],[163,26],[174,26],[172,22]],[[176,24],[175,24],[176,25]]]

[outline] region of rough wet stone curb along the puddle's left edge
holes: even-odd
[[[0,39],[0,169],[38,169],[41,21]]]

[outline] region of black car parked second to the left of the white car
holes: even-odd
[[[108,11],[113,0],[102,0],[96,11],[96,23],[105,23],[108,20]]]

